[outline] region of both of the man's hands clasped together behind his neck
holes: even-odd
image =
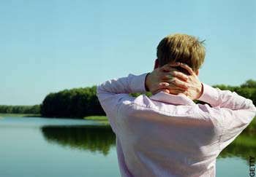
[[[176,66],[185,68],[190,75],[178,71]],[[192,68],[185,63],[166,64],[146,76],[146,89],[152,94],[160,91],[173,95],[187,95],[192,100],[197,100],[203,93],[203,86]]]

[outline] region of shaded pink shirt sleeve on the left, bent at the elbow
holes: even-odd
[[[129,97],[129,93],[145,93],[146,74],[110,79],[97,86],[97,97],[104,109],[113,132],[116,133],[116,113],[121,98]]]

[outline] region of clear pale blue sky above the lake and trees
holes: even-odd
[[[248,1],[0,1],[0,105],[151,72],[169,34],[206,40],[199,79],[255,79],[256,3]]]

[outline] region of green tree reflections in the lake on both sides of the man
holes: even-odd
[[[50,143],[100,152],[107,155],[111,146],[116,146],[116,136],[108,126],[45,126],[42,133]],[[255,134],[255,133],[254,133]],[[256,157],[254,134],[242,133],[225,148],[219,158],[240,157],[248,160]]]

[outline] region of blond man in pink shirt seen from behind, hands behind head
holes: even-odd
[[[204,58],[203,42],[173,34],[159,43],[154,71],[97,87],[116,133],[121,176],[215,176],[217,156],[256,109],[249,99],[201,83]],[[153,95],[129,97],[146,91]]]

